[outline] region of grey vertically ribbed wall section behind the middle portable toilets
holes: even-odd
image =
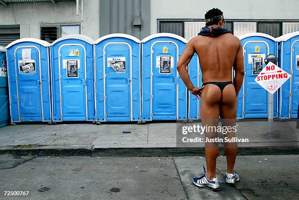
[[[141,27],[133,26],[135,18],[141,19]],[[100,36],[112,33],[149,36],[150,0],[100,0]]]

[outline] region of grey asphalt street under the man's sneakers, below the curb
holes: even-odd
[[[298,155],[238,156],[235,171],[241,181],[235,187],[224,185],[226,159],[219,156],[219,192],[192,184],[192,176],[203,173],[202,165],[205,165],[205,158],[199,156],[42,157],[4,154],[0,155],[0,199],[299,199]],[[5,191],[28,191],[28,194],[11,196]]]

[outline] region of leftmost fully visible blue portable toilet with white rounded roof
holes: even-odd
[[[49,43],[22,38],[6,49],[11,122],[51,122]]]

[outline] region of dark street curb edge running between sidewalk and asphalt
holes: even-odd
[[[96,147],[82,146],[43,146],[35,148],[0,147],[0,154],[38,155],[38,156],[204,156],[204,147]],[[299,154],[299,146],[280,147],[239,147],[237,155],[289,155]],[[219,148],[219,155],[225,155]]]

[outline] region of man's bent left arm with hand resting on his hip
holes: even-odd
[[[176,68],[177,68],[177,71],[180,74],[182,80],[184,81],[185,85],[187,86],[188,90],[191,91],[191,93],[194,94],[198,98],[197,95],[200,96],[200,91],[203,89],[203,87],[195,88],[193,86],[193,84],[190,80],[190,77],[189,77],[189,73],[186,69],[187,65],[189,64],[190,60],[192,59],[192,56],[195,53],[193,41],[194,41],[194,39],[191,39],[188,42],[183,54],[181,55],[181,57],[177,63]]]

